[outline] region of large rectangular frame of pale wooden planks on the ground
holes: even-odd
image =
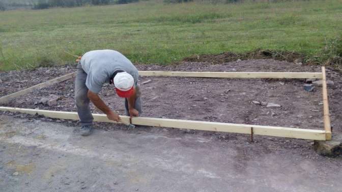
[[[328,94],[326,86],[325,68],[322,67],[322,73],[278,73],[278,72],[170,72],[170,71],[139,71],[141,76],[165,76],[165,77],[201,77],[201,78],[290,78],[290,79],[306,79],[317,78],[323,80],[323,108],[324,108],[324,127],[325,130],[307,130],[296,129],[291,127],[278,127],[278,126],[262,126],[262,125],[248,125],[248,124],[234,124],[234,123],[221,123],[221,122],[207,122],[207,121],[193,121],[193,120],[180,120],[180,119],[164,119],[164,118],[151,118],[151,117],[135,117],[132,118],[132,124],[146,125],[146,126],[161,126],[173,127],[178,129],[191,129],[191,130],[205,130],[205,131],[218,131],[228,133],[240,134],[254,134],[275,137],[287,137],[297,139],[310,139],[310,140],[330,140],[331,139],[331,125],[329,117]],[[6,95],[0,98],[0,103],[8,102],[15,99],[20,95],[30,92],[37,88],[49,86],[58,82],[66,81],[75,76],[71,73],[59,78],[49,80],[44,83],[32,86],[30,88]],[[12,111],[28,114],[40,114],[50,118],[72,119],[78,120],[76,112],[64,111],[48,111],[48,110],[35,110],[35,109],[22,109],[11,107],[0,107],[0,111]],[[106,115],[93,114],[94,121],[99,122],[115,122],[108,120]],[[128,116],[121,116],[124,123],[129,123]]]

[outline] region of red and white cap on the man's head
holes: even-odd
[[[117,94],[121,98],[130,98],[134,93],[134,79],[127,72],[120,72],[113,79]]]

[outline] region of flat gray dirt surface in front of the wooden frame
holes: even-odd
[[[309,142],[174,129],[95,130],[0,115],[1,191],[340,191]]]

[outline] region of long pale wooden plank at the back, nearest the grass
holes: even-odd
[[[322,79],[322,73],[278,73],[278,72],[181,72],[181,71],[139,71],[141,76],[206,77],[206,78],[288,78]]]

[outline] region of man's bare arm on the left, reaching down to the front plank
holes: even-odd
[[[107,115],[109,120],[119,122],[121,120],[117,112],[110,110],[110,108],[101,100],[98,94],[88,90],[88,98],[93,104]]]

